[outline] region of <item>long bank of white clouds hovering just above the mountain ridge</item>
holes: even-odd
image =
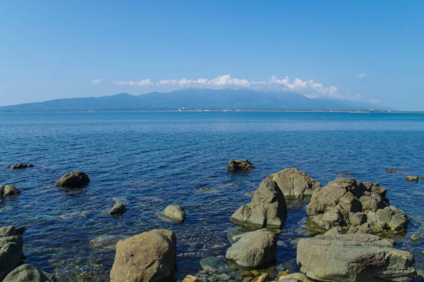
[[[250,88],[262,91],[291,91],[301,93],[307,97],[335,97],[341,98],[337,87],[324,86],[314,80],[302,80],[295,78],[292,82],[289,77],[281,79],[274,75],[267,80],[254,81],[249,79],[240,79],[231,77],[231,75],[220,75],[218,77],[207,79],[162,79],[159,82],[152,82],[150,79],[141,79],[134,81],[116,81],[114,84],[123,86],[154,87],[159,89],[175,90],[181,88]]]

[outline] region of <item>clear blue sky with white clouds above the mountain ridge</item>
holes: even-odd
[[[0,105],[199,87],[424,110],[424,1],[0,6]]]

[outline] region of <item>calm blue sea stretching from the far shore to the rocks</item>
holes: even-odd
[[[229,173],[231,158],[256,169]],[[15,162],[35,167],[10,170]],[[229,247],[229,216],[268,174],[287,167],[323,185],[353,173],[380,182],[391,204],[412,218],[398,247],[424,268],[424,115],[403,113],[40,113],[0,114],[0,184],[22,193],[0,206],[0,225],[26,227],[25,262],[62,281],[107,281],[114,244],[154,228],[177,234],[175,276],[201,269],[206,256]],[[394,167],[402,173],[387,174]],[[54,181],[82,170],[88,187],[66,190]],[[205,188],[209,187],[209,188]],[[107,212],[116,203],[128,211]],[[170,204],[186,209],[182,225],[161,220]],[[289,203],[276,264],[296,256],[297,238],[310,236],[306,204]]]

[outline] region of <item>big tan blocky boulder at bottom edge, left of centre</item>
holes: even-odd
[[[175,270],[176,245],[174,232],[166,229],[154,229],[119,241],[110,281],[168,281]]]

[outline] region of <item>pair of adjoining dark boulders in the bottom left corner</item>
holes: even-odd
[[[55,277],[22,263],[22,239],[20,230],[13,226],[0,227],[0,281],[3,282],[53,282]]]

